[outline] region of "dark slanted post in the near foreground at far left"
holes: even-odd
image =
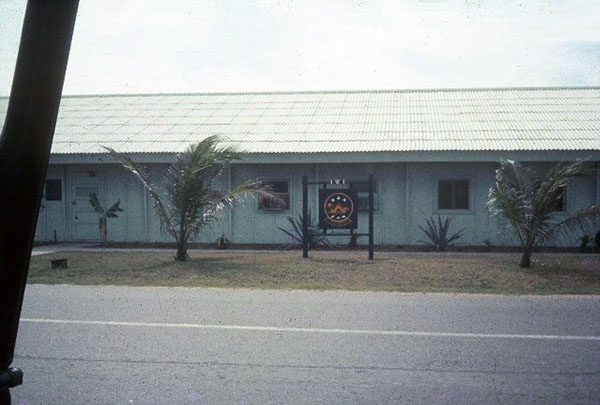
[[[0,137],[0,404],[22,378],[9,367],[77,6],[28,2]]]

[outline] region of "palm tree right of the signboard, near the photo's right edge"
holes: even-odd
[[[539,177],[530,167],[506,160],[496,170],[496,182],[489,191],[487,208],[503,215],[514,228],[522,247],[520,267],[531,266],[531,253],[539,243],[552,243],[559,235],[586,228],[600,215],[596,206],[556,220],[557,206],[563,202],[567,182],[588,171],[584,161],[559,163]]]

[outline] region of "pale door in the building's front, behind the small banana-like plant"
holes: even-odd
[[[98,228],[99,215],[90,204],[90,194],[95,193],[102,201],[100,195],[99,174],[94,171],[73,173],[73,200],[71,201],[73,215],[73,239],[75,240],[100,240]]]

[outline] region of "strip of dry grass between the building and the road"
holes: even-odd
[[[34,256],[29,283],[282,289],[344,289],[506,294],[598,294],[600,255],[534,256],[531,269],[512,253],[194,251],[62,252]],[[66,257],[69,268],[51,269]]]

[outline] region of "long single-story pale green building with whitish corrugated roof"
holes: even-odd
[[[93,192],[104,206],[120,200],[124,209],[109,220],[109,240],[171,241],[142,185],[102,145],[158,179],[177,152],[214,134],[249,153],[219,187],[260,178],[285,203],[247,202],[197,242],[221,235],[234,244],[289,242],[277,227],[289,228],[287,217],[301,213],[305,174],[309,181],[374,174],[376,245],[420,244],[419,225],[438,215],[465,228],[462,244],[518,244],[485,207],[501,159],[543,168],[588,158],[595,171],[569,184],[556,215],[600,202],[600,87],[66,96],[36,240],[99,240]],[[364,209],[366,190],[359,191]],[[313,213],[317,200],[311,187]],[[359,223],[365,232],[366,211]]]

